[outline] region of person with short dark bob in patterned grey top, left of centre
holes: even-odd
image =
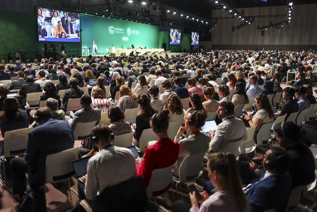
[[[130,123],[124,120],[126,117],[118,106],[112,106],[109,108],[108,118],[111,122],[111,125],[108,127],[112,131],[113,135],[121,135],[132,132]]]

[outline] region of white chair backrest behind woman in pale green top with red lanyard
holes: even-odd
[[[203,170],[203,158],[206,153],[187,155],[179,167],[180,183],[194,181]]]

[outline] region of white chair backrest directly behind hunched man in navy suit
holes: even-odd
[[[60,182],[74,176],[72,161],[78,159],[79,147],[46,156],[46,183]],[[57,166],[58,164],[58,166]]]

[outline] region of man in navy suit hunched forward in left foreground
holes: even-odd
[[[52,119],[53,115],[48,107],[39,108],[35,117],[39,126],[29,133],[24,157],[10,161],[13,194],[18,200],[22,200],[26,190],[25,173],[28,173],[31,188],[36,190],[46,181],[46,156],[74,147],[72,129],[67,122]]]

